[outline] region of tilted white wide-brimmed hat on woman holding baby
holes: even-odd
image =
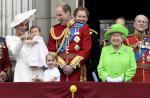
[[[17,14],[15,16],[14,21],[10,24],[10,27],[14,28],[15,26],[19,25],[20,23],[28,19],[30,16],[32,16],[35,12],[36,12],[36,9],[33,9],[24,13]]]

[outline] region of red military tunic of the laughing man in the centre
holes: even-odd
[[[83,24],[82,26],[76,25],[77,22],[72,22],[69,26],[70,32],[74,33],[72,40],[69,41],[68,48],[65,48],[65,51],[59,51],[58,52],[58,65],[61,70],[65,65],[70,65],[74,68],[74,71],[71,75],[66,76],[61,71],[61,81],[70,81],[70,82],[76,82],[76,81],[84,81],[86,80],[85,75],[85,61],[88,59],[90,49],[91,49],[91,36],[90,36],[90,30],[89,27],[86,24]],[[80,24],[80,23],[78,23]],[[52,37],[54,34],[55,37],[60,37],[60,35],[63,33],[66,26],[58,24],[53,27],[53,33],[52,30],[50,32],[50,38],[48,42],[48,50],[49,51],[57,51],[60,47],[61,43],[63,42],[63,38],[58,38],[57,40]],[[76,31],[75,28],[77,28],[79,31]],[[71,31],[71,29],[74,29]],[[64,35],[65,36],[65,35]],[[66,38],[65,38],[66,39]],[[66,52],[67,51],[67,52]]]

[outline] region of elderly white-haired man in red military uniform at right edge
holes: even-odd
[[[134,49],[137,61],[133,82],[150,82],[150,37],[146,34],[148,24],[146,16],[137,15],[134,22],[135,32],[125,40]]]

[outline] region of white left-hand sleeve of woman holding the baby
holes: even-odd
[[[19,53],[20,49],[22,48],[23,42],[21,39],[17,36],[6,36],[6,44],[8,49],[13,55],[17,55]]]

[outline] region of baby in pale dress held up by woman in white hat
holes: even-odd
[[[30,28],[31,37],[24,41],[30,48],[30,57],[28,58],[29,66],[32,67],[33,78],[35,76],[43,77],[43,70],[41,67],[46,65],[45,57],[48,53],[48,49],[41,37],[41,29],[38,26],[32,26]]]

